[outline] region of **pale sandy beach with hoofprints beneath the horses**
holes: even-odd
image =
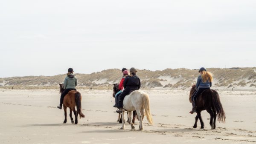
[[[187,90],[145,90],[150,97],[154,125],[144,130],[125,123],[120,130],[112,90],[79,90],[85,118],[77,125],[63,124],[57,109],[58,90],[0,89],[0,143],[2,144],[244,144],[256,142],[256,91],[218,91],[226,123],[211,130],[209,114],[202,112],[205,128],[192,128],[195,114]]]

